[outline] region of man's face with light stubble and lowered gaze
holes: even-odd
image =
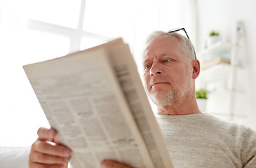
[[[150,41],[142,66],[146,92],[159,108],[181,104],[193,93],[193,69],[175,36],[159,36]]]

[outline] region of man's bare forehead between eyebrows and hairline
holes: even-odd
[[[147,43],[143,51],[142,60],[151,56],[161,56],[175,52],[181,52],[180,40],[177,37],[158,36]]]

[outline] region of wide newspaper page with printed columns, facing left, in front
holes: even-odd
[[[154,167],[105,50],[24,66],[57,141],[72,149],[74,168],[105,159]]]

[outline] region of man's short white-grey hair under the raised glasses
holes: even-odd
[[[182,52],[184,52],[187,61],[191,62],[195,59],[196,55],[194,53],[194,45],[191,43],[189,38],[182,36],[182,34],[179,34],[177,32],[168,33],[164,31],[153,31],[151,34],[149,34],[144,46],[147,46],[150,41],[159,36],[175,36],[176,38],[180,39],[180,49],[182,50]]]

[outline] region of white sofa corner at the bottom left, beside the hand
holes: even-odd
[[[28,168],[30,147],[0,147],[1,168]]]

